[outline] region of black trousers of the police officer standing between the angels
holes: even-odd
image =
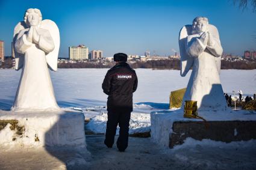
[[[117,148],[124,151],[128,147],[130,117],[130,111],[108,111],[107,129],[104,141],[108,147],[112,147],[114,144],[117,124],[120,127],[119,137],[116,142]]]

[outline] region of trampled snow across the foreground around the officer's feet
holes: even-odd
[[[256,141],[215,142],[187,139],[166,150],[150,138],[129,138],[125,153],[107,148],[104,136],[86,138],[87,150],[2,151],[0,169],[255,169]]]

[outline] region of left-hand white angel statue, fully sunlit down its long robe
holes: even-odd
[[[52,20],[42,20],[39,9],[25,12],[14,28],[16,70],[22,68],[12,111],[59,109],[48,67],[57,71],[60,33]]]

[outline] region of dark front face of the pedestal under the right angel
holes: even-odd
[[[233,142],[256,139],[256,121],[208,121],[207,128],[203,121],[175,121],[172,125],[169,147],[181,145],[187,138],[198,141]]]

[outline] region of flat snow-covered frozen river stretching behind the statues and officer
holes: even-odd
[[[108,69],[78,68],[51,71],[52,83],[58,105],[70,106],[105,106],[107,96],[102,92],[101,83]],[[0,70],[0,109],[10,109],[20,71]],[[180,76],[178,70],[136,69],[139,85],[134,93],[134,103],[169,103],[170,91],[187,86],[190,73]],[[223,91],[242,90],[245,95],[256,93],[256,70],[222,70],[220,74]],[[29,88],[29,87],[28,87]]]

